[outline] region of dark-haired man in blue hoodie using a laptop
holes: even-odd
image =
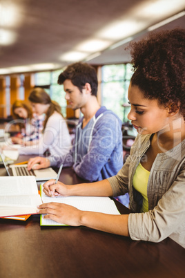
[[[69,65],[59,75],[66,100],[84,115],[76,128],[75,143],[67,155],[30,158],[28,169],[58,166],[73,167],[81,178],[90,182],[114,176],[123,165],[121,120],[97,102],[97,73],[86,63]],[[110,100],[111,101],[111,100]]]

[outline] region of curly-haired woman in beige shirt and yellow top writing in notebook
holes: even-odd
[[[171,237],[185,248],[185,30],[153,33],[131,46],[134,73],[128,119],[138,135],[116,176],[90,184],[49,180],[48,196],[118,196],[129,192],[129,215],[84,212],[59,203],[38,213],[68,225],[159,242]]]

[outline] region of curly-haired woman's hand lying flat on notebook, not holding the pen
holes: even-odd
[[[38,207],[39,214],[46,214],[44,219],[51,219],[58,223],[79,226],[83,212],[76,207],[61,203],[44,203]]]

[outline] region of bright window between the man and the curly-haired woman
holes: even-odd
[[[131,64],[117,64],[101,68],[101,104],[115,112],[123,122],[128,122],[127,93],[133,74],[131,67]]]

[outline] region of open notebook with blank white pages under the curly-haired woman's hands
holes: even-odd
[[[115,202],[108,197],[93,197],[93,196],[56,196],[56,197],[48,197],[43,192],[43,188],[41,185],[41,198],[43,203],[66,203],[68,205],[72,205],[73,207],[77,207],[79,210],[85,210],[89,212],[102,212],[105,214],[120,214],[117,210]],[[40,225],[64,225],[57,223],[56,221],[52,221],[50,219],[44,219],[43,216],[45,214],[41,214]]]

